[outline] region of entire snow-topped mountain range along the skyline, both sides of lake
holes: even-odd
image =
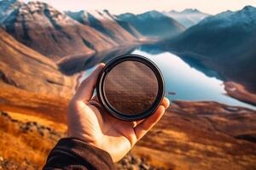
[[[61,68],[73,59],[77,63],[92,54],[156,38],[165,39],[160,42],[162,48],[197,59],[228,81],[242,82],[247,87],[256,84],[253,74],[256,15],[252,6],[214,16],[197,9],[113,15],[108,10],[62,13],[47,3],[5,0],[0,1],[0,16],[1,27],[14,40],[55,64],[61,63]],[[185,19],[193,23],[185,24]],[[79,69],[75,65],[67,67],[67,72],[75,73],[83,65]]]

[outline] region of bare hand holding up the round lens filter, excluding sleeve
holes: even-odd
[[[105,150],[113,161],[119,161],[160,120],[169,100],[163,99],[155,113],[142,121],[121,121],[105,111],[96,98],[91,99],[103,67],[104,64],[98,65],[71,99],[67,116],[68,136]]]

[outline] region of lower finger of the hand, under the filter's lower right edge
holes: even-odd
[[[144,119],[137,127],[134,128],[137,139],[141,139],[150,128],[154,127],[156,122],[159,122],[160,118],[165,113],[165,107],[160,105],[159,108],[154,112],[152,116],[148,116],[148,118]]]

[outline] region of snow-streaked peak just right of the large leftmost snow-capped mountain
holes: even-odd
[[[129,43],[137,41],[137,37],[134,37],[129,31],[126,31],[122,26],[119,26],[119,23],[116,22],[113,14],[110,14],[108,10],[67,11],[66,14],[73,18],[73,20],[77,20],[85,26],[93,27],[97,31],[111,37],[115,42]]]

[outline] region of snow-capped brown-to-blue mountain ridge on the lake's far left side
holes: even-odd
[[[108,10],[60,12],[47,3],[0,1],[0,26],[19,42],[54,61],[173,37],[185,27],[158,11],[110,14]]]

